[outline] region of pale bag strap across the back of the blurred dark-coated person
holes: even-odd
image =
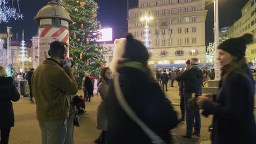
[[[135,114],[135,112],[131,109],[129,104],[127,104],[123,93],[121,92],[121,88],[119,85],[119,75],[116,75],[114,77],[114,89],[115,89],[115,95],[117,95],[117,100],[122,109],[126,112],[126,114],[141,127],[141,129],[146,133],[149,137],[149,139],[152,141],[152,143],[156,144],[166,144],[165,141],[161,139],[154,131],[149,129],[147,125],[139,119],[139,117]]]

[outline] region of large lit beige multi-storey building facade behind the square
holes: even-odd
[[[206,62],[205,20],[203,0],[139,0],[138,8],[129,10],[128,31],[143,40],[145,14],[149,21],[149,39],[153,54],[150,64],[182,64],[191,57]]]

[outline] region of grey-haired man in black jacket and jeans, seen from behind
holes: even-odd
[[[201,118],[200,113],[198,111],[191,111],[187,107],[188,100],[192,98],[192,94],[194,93],[197,96],[201,95],[202,88],[202,70],[199,68],[199,59],[191,58],[190,59],[190,68],[184,73],[177,76],[177,81],[184,81],[184,103],[185,103],[185,114],[186,114],[186,123],[187,123],[187,131],[183,137],[190,138],[192,135],[200,136],[201,129]],[[193,132],[193,121],[195,118],[195,127]]]

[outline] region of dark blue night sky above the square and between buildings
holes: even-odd
[[[31,39],[38,31],[38,23],[34,21],[38,10],[51,0],[20,0],[20,10],[23,20],[10,20],[9,23],[0,24],[0,33],[6,32],[6,26],[12,27],[12,33],[25,32],[25,38]],[[219,0],[219,28],[231,26],[241,17],[241,9],[249,0]],[[16,2],[16,1],[14,1]],[[99,4],[98,20],[102,27],[127,28],[127,0],[96,0]],[[211,0],[206,0],[206,4]],[[138,0],[130,0],[129,7],[135,7]],[[17,5],[16,5],[17,6]],[[213,34],[213,3],[206,6],[206,45],[214,41]]]

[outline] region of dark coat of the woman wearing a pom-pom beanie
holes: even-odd
[[[231,72],[214,102],[203,101],[204,115],[214,115],[212,143],[256,143],[256,125],[254,110],[254,80],[251,71],[245,65],[245,74]]]

